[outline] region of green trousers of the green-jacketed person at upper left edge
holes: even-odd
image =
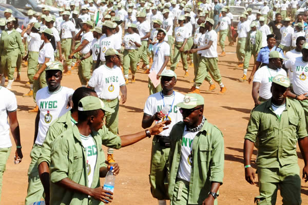
[[[4,50],[1,56],[1,69],[5,76],[8,76],[9,80],[14,79],[14,72],[16,68],[16,62],[18,58],[18,49]]]

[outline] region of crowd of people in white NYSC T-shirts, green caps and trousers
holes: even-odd
[[[222,132],[203,115],[200,86],[209,91],[222,82],[218,57],[236,44],[243,76],[253,83],[255,108],[244,141],[244,170],[254,184],[254,147],[259,196],[257,204],[275,204],[280,187],[284,204],[301,204],[298,143],[308,180],[308,10],[304,1],[45,0],[42,12],[29,10],[20,27],[12,10],[0,19],[0,194],[12,142],[15,163],[23,158],[14,81],[27,67],[36,113],[25,204],[101,204],[113,193],[100,177],[120,166],[113,149],[153,136],[149,183],[159,205],[217,204],[224,175]],[[249,4],[259,5],[253,13]],[[54,6],[59,16],[50,14]],[[236,24],[230,12],[245,8]],[[304,8],[305,9],[305,8]],[[228,37],[229,45],[225,45]],[[217,46],[221,52],[218,54]],[[253,70],[247,71],[254,56]],[[174,91],[177,68],[194,76],[188,94]],[[190,73],[189,66],[194,68]],[[61,86],[78,69],[81,87]],[[142,128],[119,136],[119,104],[137,70],[148,74]],[[191,69],[192,70],[192,69]],[[16,77],[14,77],[17,72]],[[129,77],[131,76],[131,78]],[[7,81],[7,83],[6,83]],[[228,88],[230,89],[230,88]],[[232,89],[232,88],[231,88]],[[153,124],[153,122],[155,122]],[[105,158],[102,145],[108,147]]]

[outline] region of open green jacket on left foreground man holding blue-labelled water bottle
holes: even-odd
[[[100,187],[100,168],[106,167],[102,150],[102,138],[97,132],[91,133],[97,146],[97,162],[94,168],[91,188]],[[69,178],[80,185],[88,186],[86,152],[76,126],[57,137],[51,148],[50,163],[50,205],[88,205],[88,196],[56,185],[56,182]],[[104,204],[90,198],[91,204]]]

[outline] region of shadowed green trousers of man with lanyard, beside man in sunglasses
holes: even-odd
[[[170,148],[162,146],[158,141],[158,137],[154,136],[152,140],[149,180],[152,196],[158,200],[169,199],[169,166],[167,163],[169,152]]]

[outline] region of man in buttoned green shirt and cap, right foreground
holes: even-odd
[[[286,98],[290,80],[283,75],[273,79],[272,98],[256,107],[244,137],[245,179],[255,184],[251,166],[254,146],[258,149],[257,173],[259,196],[257,204],[276,204],[280,187],[283,204],[301,204],[301,177],[296,153],[298,142],[305,166],[303,179],[308,180],[308,137],[304,110],[297,100]]]

